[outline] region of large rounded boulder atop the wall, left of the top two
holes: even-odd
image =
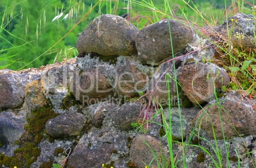
[[[134,38],[138,29],[116,15],[101,15],[92,20],[76,41],[80,56],[97,53],[103,56],[134,55]]]

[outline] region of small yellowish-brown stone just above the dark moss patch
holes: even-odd
[[[36,110],[46,104],[45,88],[41,86],[41,80],[35,80],[25,86],[25,105],[28,110]]]

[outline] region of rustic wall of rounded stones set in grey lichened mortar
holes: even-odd
[[[254,52],[252,16],[238,13],[215,30],[225,36],[234,18],[245,32],[239,45]],[[171,137],[176,167],[182,158],[187,167],[255,166],[255,100],[222,93],[230,77],[215,64],[215,45],[187,25],[162,20],[138,30],[103,15],[78,38],[78,57],[1,70],[0,165],[169,167]]]

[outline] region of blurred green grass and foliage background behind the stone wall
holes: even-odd
[[[254,6],[254,1],[237,0],[236,5],[234,0],[169,0],[167,2],[171,7],[170,15],[189,20],[199,26],[206,25],[206,20],[211,25],[220,24],[225,19],[226,13],[232,15],[231,11],[236,9],[244,13],[252,13],[251,7]],[[95,4],[97,4],[96,8],[90,10]],[[88,23],[98,15],[111,13],[125,17],[129,12],[129,20],[141,29],[160,19],[154,15],[157,12],[153,13],[152,9],[164,11],[166,9],[164,0],[101,0],[100,3],[98,0],[1,0],[0,68],[12,70],[36,68],[62,61],[64,58],[75,57],[76,39]],[[82,22],[69,32],[87,12],[89,14]],[[64,37],[67,33],[68,35]]]

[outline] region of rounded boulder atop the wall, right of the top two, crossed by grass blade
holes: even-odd
[[[169,27],[171,28],[171,48]],[[136,36],[138,58],[148,65],[160,65],[185,49],[188,42],[193,39],[193,31],[176,20],[161,20],[141,30]]]

